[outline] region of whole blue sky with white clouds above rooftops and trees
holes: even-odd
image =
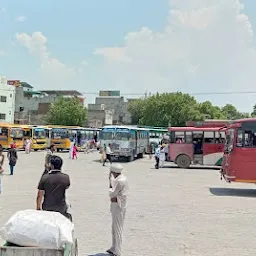
[[[251,112],[255,31],[255,0],[0,0],[0,75],[87,103],[181,91]]]

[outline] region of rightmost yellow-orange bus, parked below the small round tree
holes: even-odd
[[[54,144],[57,151],[69,150],[72,138],[76,138],[78,126],[47,126],[50,131],[51,144]]]

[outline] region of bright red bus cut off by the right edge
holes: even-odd
[[[221,178],[256,183],[256,118],[235,120],[226,129]]]

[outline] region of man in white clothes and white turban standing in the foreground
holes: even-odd
[[[123,167],[120,164],[110,166],[109,173],[109,197],[110,211],[112,215],[112,246],[107,253],[113,256],[122,254],[123,226],[127,208],[128,181],[122,174]]]

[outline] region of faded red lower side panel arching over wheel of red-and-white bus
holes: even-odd
[[[171,161],[175,161],[178,155],[185,154],[188,155],[193,161],[194,155],[194,145],[193,144],[178,144],[178,143],[171,143],[169,144],[169,156]]]

